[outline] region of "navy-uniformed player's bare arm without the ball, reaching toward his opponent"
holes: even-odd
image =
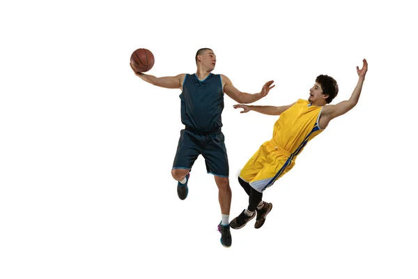
[[[254,103],[257,100],[260,100],[261,98],[267,96],[270,89],[272,89],[275,86],[271,86],[273,84],[273,81],[270,80],[270,82],[266,82],[264,84],[260,93],[250,94],[236,89],[235,86],[233,86],[231,80],[229,80],[229,78],[226,77],[226,75],[222,75],[222,82],[224,83],[224,92],[226,93],[226,95],[228,95],[231,99],[235,100],[235,102],[242,104]]]

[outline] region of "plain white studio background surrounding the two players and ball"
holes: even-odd
[[[418,20],[412,1],[13,1],[1,3],[0,278],[417,278],[415,179]],[[320,74],[354,110],[310,142],[265,191],[265,225],[219,243],[217,187],[199,157],[180,201],[171,165],[180,91],[149,74],[194,73],[210,47],[214,73],[258,101],[308,98]],[[235,178],[276,117],[223,114]]]

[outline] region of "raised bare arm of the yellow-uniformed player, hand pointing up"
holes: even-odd
[[[363,59],[363,67],[359,69],[357,66],[357,74],[359,75],[359,80],[349,100],[343,100],[341,103],[336,105],[326,105],[324,107],[323,114],[324,116],[327,116],[327,121],[345,114],[346,112],[352,110],[355,105],[357,105],[357,102],[360,98],[360,93],[362,93],[362,87],[364,78],[366,77],[367,68],[367,61],[366,59]]]

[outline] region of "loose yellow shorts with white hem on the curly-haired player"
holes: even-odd
[[[295,165],[290,153],[278,149],[270,141],[263,143],[258,151],[241,169],[240,178],[257,190],[263,192],[274,181],[286,174]]]

